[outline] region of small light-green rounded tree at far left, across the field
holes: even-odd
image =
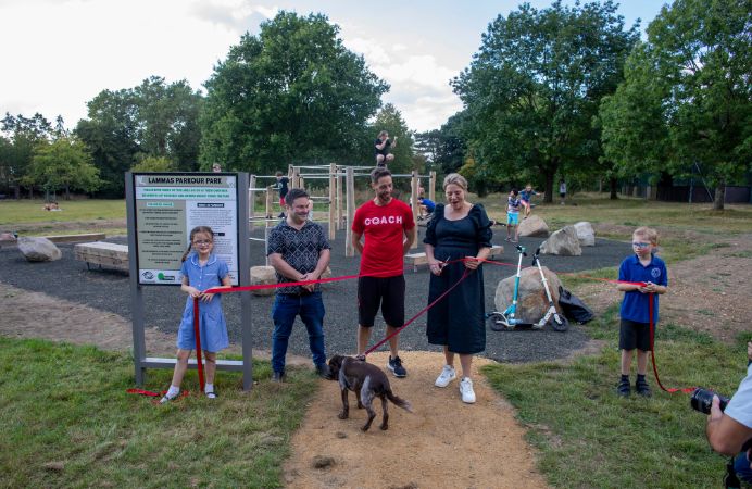
[[[38,145],[25,179],[45,189],[47,200],[50,192],[58,190],[65,190],[65,198],[70,200],[71,189],[91,192],[101,185],[99,170],[86,145],[71,137]]]

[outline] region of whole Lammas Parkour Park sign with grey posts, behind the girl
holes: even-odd
[[[227,263],[234,286],[250,285],[248,174],[126,173],[126,208],[136,384],[146,368],[173,368],[175,359],[147,358],[143,322],[145,286],[179,286],[181,259],[190,230],[210,226],[214,253]],[[242,361],[217,361],[217,368],[241,371],[243,389],[252,379],[251,302],[241,297]],[[189,368],[196,368],[196,361]]]

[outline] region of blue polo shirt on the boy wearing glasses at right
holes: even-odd
[[[637,254],[624,259],[622,266],[618,267],[618,279],[624,281],[652,281],[656,285],[668,286],[666,264],[655,255],[652,256],[648,266],[643,266],[640,263],[640,258]],[[624,292],[621,310],[622,318],[636,323],[649,323],[649,293],[642,293],[639,290]],[[657,324],[659,294],[653,293],[653,324]]]

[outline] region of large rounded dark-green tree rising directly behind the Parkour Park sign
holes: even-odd
[[[280,12],[246,34],[206,83],[201,163],[272,173],[348,161],[388,87],[324,15]],[[371,151],[373,153],[373,150]]]

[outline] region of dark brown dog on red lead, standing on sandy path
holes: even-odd
[[[387,410],[387,399],[412,413],[413,408],[409,401],[394,396],[389,386],[387,375],[374,364],[352,356],[334,355],[329,360],[329,371],[331,380],[339,380],[339,388],[342,391],[342,411],[339,413],[340,419],[347,419],[350,414],[348,402],[348,390],[355,392],[358,398],[358,409],[365,408],[368,413],[368,421],[361,427],[363,431],[371,428],[376,412],[373,408],[374,398],[381,399],[381,429],[389,429],[389,412]]]

